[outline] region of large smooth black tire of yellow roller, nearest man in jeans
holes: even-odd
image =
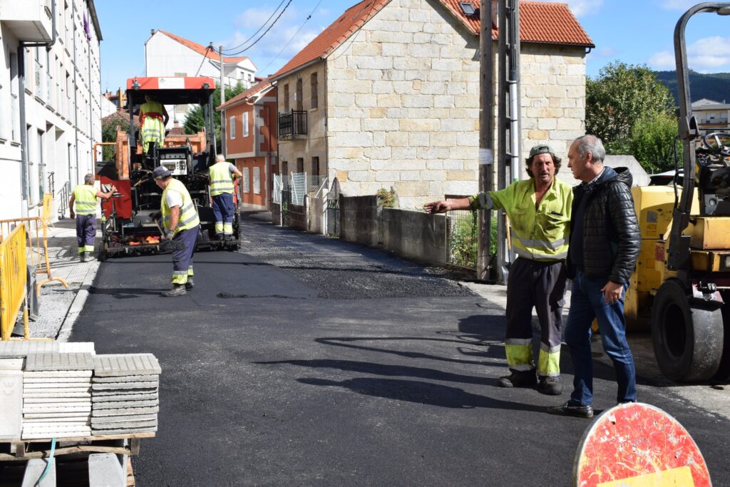
[[[661,285],[651,310],[651,338],[661,372],[677,382],[712,378],[723,353],[722,311],[690,304],[676,279]]]

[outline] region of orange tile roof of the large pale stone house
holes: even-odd
[[[478,15],[464,15],[457,0],[439,1],[472,34],[480,34],[481,22]],[[478,12],[480,2],[470,1]],[[390,0],[364,0],[350,7],[270,78],[274,80],[313,61],[326,58],[389,2]],[[497,38],[496,28],[492,29],[492,37]],[[520,41],[595,47],[567,4],[542,1],[520,1]]]

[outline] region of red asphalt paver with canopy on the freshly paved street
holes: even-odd
[[[215,161],[213,91],[215,80],[210,77],[134,77],[127,80],[128,128],[117,131],[115,161],[102,163],[98,169],[101,184],[113,184],[118,191],[102,203],[102,258],[120,253],[166,250],[158,219],[162,191],[152,177],[157,166],[165,166],[173,177],[183,182],[196,204],[200,217],[196,250],[238,248],[238,212],[234,213],[234,239],[222,241],[215,237],[215,217],[208,187],[208,168]],[[134,114],[145,102],[145,96],[167,106],[199,105],[204,113],[203,130],[198,134],[168,133],[164,145],[150,145],[144,153]]]

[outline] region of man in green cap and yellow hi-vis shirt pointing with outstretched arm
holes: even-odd
[[[542,394],[562,394],[560,347],[566,280],[572,189],[556,180],[561,159],[549,145],[536,145],[526,160],[529,180],[501,191],[427,203],[429,213],[450,210],[504,209],[510,218],[512,250],[518,258],[507,280],[505,351],[510,375],[502,387],[534,387]],[[532,351],[532,308],[540,322],[537,377]]]

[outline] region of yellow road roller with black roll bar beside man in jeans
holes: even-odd
[[[726,382],[730,378],[730,133],[726,129],[702,134],[692,115],[685,28],[699,12],[730,15],[730,3],[698,4],[677,22],[683,166],[677,167],[674,187],[632,188],[642,251],[625,310],[629,326],[650,323],[654,354],[664,375],[680,382]]]

